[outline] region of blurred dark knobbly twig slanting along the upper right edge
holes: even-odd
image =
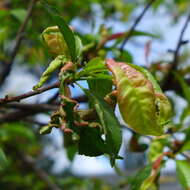
[[[178,39],[178,42],[176,45],[176,49],[173,51],[174,52],[174,58],[173,58],[173,61],[171,63],[170,71],[174,71],[177,68],[178,61],[179,61],[180,49],[181,49],[182,45],[186,44],[183,41],[183,36],[184,36],[185,31],[188,27],[189,21],[190,21],[190,13],[188,14],[187,19],[186,19],[186,21],[182,27],[182,30],[180,32],[179,39]],[[171,85],[172,79],[173,79],[172,76],[173,76],[172,72],[169,72],[168,75],[166,75],[165,80],[163,81],[163,84],[161,85],[163,90],[166,90],[168,85]]]

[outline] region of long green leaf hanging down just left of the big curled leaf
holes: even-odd
[[[118,158],[118,152],[122,142],[120,123],[111,107],[103,100],[102,97],[92,93],[87,89],[82,89],[89,97],[97,111],[105,134],[107,153],[110,155],[111,165],[113,166],[115,159]]]

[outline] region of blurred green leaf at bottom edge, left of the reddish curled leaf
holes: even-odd
[[[151,165],[147,165],[145,168],[140,170],[137,175],[135,175],[131,181],[131,190],[139,190],[143,181],[150,176]]]

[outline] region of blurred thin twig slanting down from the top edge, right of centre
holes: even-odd
[[[143,16],[145,15],[145,13],[147,12],[147,10],[151,7],[151,5],[155,2],[156,0],[150,0],[147,5],[144,7],[143,11],[141,12],[141,14],[137,17],[137,19],[135,20],[134,24],[132,25],[131,29],[129,30],[129,32],[127,33],[123,43],[121,44],[120,47],[120,52],[123,52],[123,49],[126,45],[126,43],[128,42],[129,38],[131,37],[131,35],[133,34],[135,28],[137,27],[137,25],[139,24],[139,22],[141,21],[141,19],[143,18]]]

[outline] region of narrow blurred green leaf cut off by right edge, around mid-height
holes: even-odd
[[[183,94],[184,94],[186,100],[190,104],[190,87],[189,87],[189,85],[185,82],[184,78],[182,76],[180,76],[177,72],[173,72],[173,73],[174,73],[175,78],[178,80],[178,82],[181,85],[181,88],[183,90]]]

